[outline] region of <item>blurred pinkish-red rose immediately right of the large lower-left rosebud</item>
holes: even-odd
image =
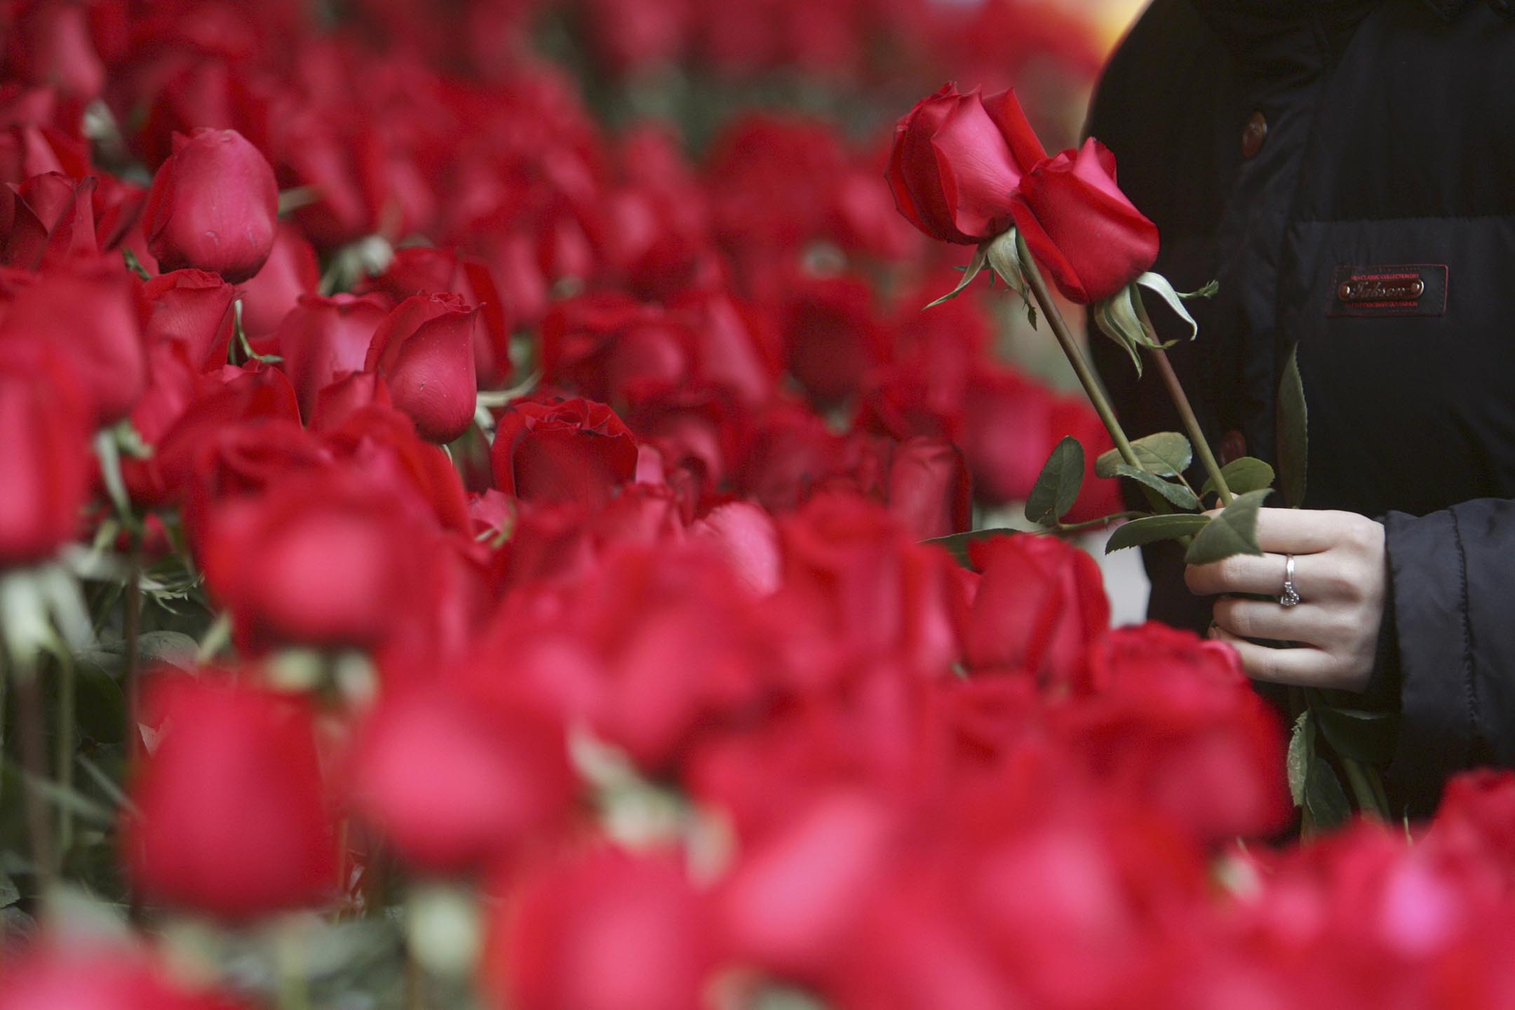
[[[355,803],[415,868],[477,868],[573,809],[562,722],[498,690],[482,695],[418,684],[380,700],[361,731]]]

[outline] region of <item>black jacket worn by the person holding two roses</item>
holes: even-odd
[[[1220,280],[1194,306],[1198,339],[1171,353],[1212,445],[1274,457],[1276,391],[1297,344],[1303,504],[1385,519],[1403,709],[1389,781],[1413,813],[1459,768],[1515,765],[1507,14],[1457,0],[1154,0],[1089,123],[1157,223],[1156,270],[1180,291]],[[1138,385],[1124,351],[1092,345],[1132,435],[1179,430],[1154,380]],[[1183,589],[1176,548],[1148,551],[1147,566],[1151,616],[1204,628],[1209,601]]]

